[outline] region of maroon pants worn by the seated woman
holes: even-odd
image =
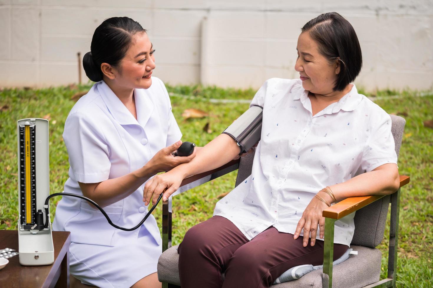
[[[270,227],[248,241],[228,219],[213,216],[189,229],[178,248],[181,287],[269,287],[291,267],[322,265],[323,241],[303,247],[302,240]],[[334,260],[347,249],[334,244]]]

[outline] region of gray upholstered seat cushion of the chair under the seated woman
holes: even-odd
[[[358,255],[350,255],[349,259],[333,268],[333,287],[364,287],[379,281],[382,254],[380,250],[362,246],[351,246]],[[180,285],[178,246],[173,246],[162,253],[158,261],[158,279]],[[272,288],[322,288],[322,269],[307,273],[300,279],[272,285]]]

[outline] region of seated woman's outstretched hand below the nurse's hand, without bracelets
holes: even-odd
[[[144,204],[148,205],[152,199],[152,204],[155,205],[161,193],[164,193],[162,200],[167,201],[168,197],[179,189],[182,180],[184,180],[184,174],[176,171],[168,171],[164,174],[156,175],[144,185]]]

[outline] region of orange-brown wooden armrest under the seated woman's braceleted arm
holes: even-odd
[[[409,183],[409,181],[409,176],[400,175],[400,187],[403,187]],[[322,215],[326,218],[340,219],[352,212],[355,212],[356,210],[361,209],[364,206],[367,206],[370,203],[375,202],[378,199],[381,199],[384,196],[385,195],[369,195],[349,197],[329,208],[326,208],[323,210]]]

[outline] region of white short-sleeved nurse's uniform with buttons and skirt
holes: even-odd
[[[135,171],[181,139],[160,79],[152,77],[150,88],[135,89],[134,97],[137,120],[103,81],[74,105],[63,133],[71,165],[65,192],[82,195],[78,182],[97,183]],[[131,228],[142,220],[148,210],[143,187],[104,208],[114,224]],[[87,201],[64,196],[53,229],[71,231],[70,272],[83,283],[130,287],[156,272],[162,240],[152,215],[135,231],[122,231]]]

